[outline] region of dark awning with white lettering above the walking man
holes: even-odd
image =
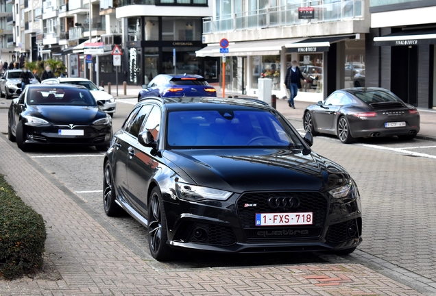
[[[334,36],[323,38],[308,38],[300,42],[287,43],[287,52],[311,53],[322,52],[330,49],[330,44],[342,40],[355,39],[356,35]]]

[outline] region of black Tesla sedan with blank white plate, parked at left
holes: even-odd
[[[47,144],[88,145],[106,151],[112,120],[83,86],[27,86],[10,106],[8,136],[23,151]]]

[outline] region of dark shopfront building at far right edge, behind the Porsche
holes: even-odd
[[[436,1],[372,0],[370,12],[366,85],[436,108]]]

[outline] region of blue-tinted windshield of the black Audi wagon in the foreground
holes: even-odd
[[[278,115],[263,110],[169,112],[170,147],[278,147],[303,149],[298,136]]]

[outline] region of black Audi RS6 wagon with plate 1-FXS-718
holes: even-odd
[[[104,210],[145,225],[157,260],[175,249],[350,254],[359,190],[312,141],[261,101],[148,97],[104,158]]]

